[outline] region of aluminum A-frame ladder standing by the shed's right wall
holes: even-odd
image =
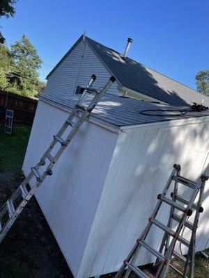
[[[149,218],[149,222],[146,225],[146,228],[142,232],[141,236],[137,239],[137,242],[130,251],[130,254],[128,254],[125,261],[123,261],[123,265],[121,265],[120,270],[118,270],[118,272],[116,273],[115,278],[127,278],[129,277],[130,272],[134,272],[135,275],[137,275],[138,277],[148,278],[146,273],[144,273],[137,267],[137,265],[135,265],[141,247],[144,247],[146,250],[148,250],[148,252],[150,252],[156,257],[154,266],[157,268],[157,273],[155,275],[155,278],[165,278],[169,270],[169,267],[173,268],[173,270],[176,270],[176,272],[178,272],[178,274],[180,274],[182,277],[187,277],[188,265],[190,272],[189,277],[194,277],[196,229],[199,221],[199,214],[203,212],[201,202],[203,198],[205,183],[207,180],[208,176],[206,176],[205,174],[201,175],[198,182],[194,182],[189,179],[186,179],[185,177],[181,177],[180,165],[173,165],[173,171],[171,172],[171,176],[169,177],[169,180],[167,181],[167,184],[162,194],[159,194],[157,196],[157,204],[153,210],[152,215]],[[166,195],[168,194],[168,190],[171,186],[172,181],[175,181],[175,183],[170,199],[166,197]],[[178,195],[179,183],[192,190],[192,194],[189,200]],[[194,202],[196,197],[198,201],[195,204]],[[171,206],[167,225],[163,224],[162,222],[156,219],[157,213],[159,212],[160,207],[163,203],[166,203],[169,206]],[[192,215],[192,210],[196,211],[194,222],[188,221],[189,216]],[[181,213],[181,215],[179,215],[179,212]],[[172,229],[173,220],[175,220],[178,223],[176,231]],[[150,228],[153,224],[164,231],[164,236],[162,238],[162,243],[160,245],[159,251],[155,250],[146,242],[146,237],[148,236]],[[184,227],[187,227],[192,231],[191,238],[189,241],[183,238],[182,231]],[[189,248],[186,258],[182,254],[179,254],[174,250],[177,241],[180,244],[183,244]],[[180,271],[174,265],[171,265],[171,258],[173,257],[181,263],[183,263],[183,271]]]

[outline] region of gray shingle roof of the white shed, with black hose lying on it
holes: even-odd
[[[68,93],[59,94],[59,92],[57,92],[45,93],[44,95],[40,96],[40,99],[52,101],[54,104],[59,104],[64,108],[72,109],[75,106],[78,97],[78,95],[72,95]],[[134,124],[148,124],[152,122],[180,120],[189,117],[201,117],[209,115],[209,111],[189,112],[181,116],[172,115],[171,112],[168,112],[170,116],[150,116],[141,114],[141,111],[147,109],[175,110],[175,107],[106,94],[94,108],[91,117],[95,117],[98,120],[113,124],[114,126],[128,126]],[[182,108],[178,107],[178,109]],[[162,114],[162,112],[156,113]]]

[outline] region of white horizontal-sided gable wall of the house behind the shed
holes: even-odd
[[[81,41],[49,76],[45,92],[74,93],[77,85],[87,85],[92,74],[98,77],[94,83],[95,88],[102,87],[112,75],[88,43]],[[118,94],[118,85],[116,81],[108,92]]]

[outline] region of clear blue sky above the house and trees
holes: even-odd
[[[19,0],[15,8],[1,32],[8,45],[29,37],[43,60],[42,80],[84,30],[119,52],[133,38],[130,58],[192,88],[196,72],[208,69],[208,0]]]

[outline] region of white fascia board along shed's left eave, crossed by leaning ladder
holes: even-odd
[[[49,99],[45,99],[45,98],[43,98],[41,96],[39,97],[39,99],[40,99],[40,101],[43,101],[43,102],[45,102],[47,104],[50,104],[50,105],[52,105],[52,106],[54,106],[56,108],[59,108],[59,109],[65,111],[65,112],[70,113],[72,111],[68,107],[65,107],[65,106],[63,106],[61,104],[58,104],[58,103],[56,103],[54,101],[51,101]],[[82,115],[82,113],[79,113],[79,115]],[[92,122],[93,124],[97,124],[98,126],[102,126],[104,129],[109,129],[109,131],[112,131],[114,133],[119,133],[120,132],[120,126],[116,126],[114,124],[109,124],[107,122],[104,122],[104,121],[98,119],[97,117],[90,116],[90,117],[88,117],[88,120],[89,120],[89,122]]]

